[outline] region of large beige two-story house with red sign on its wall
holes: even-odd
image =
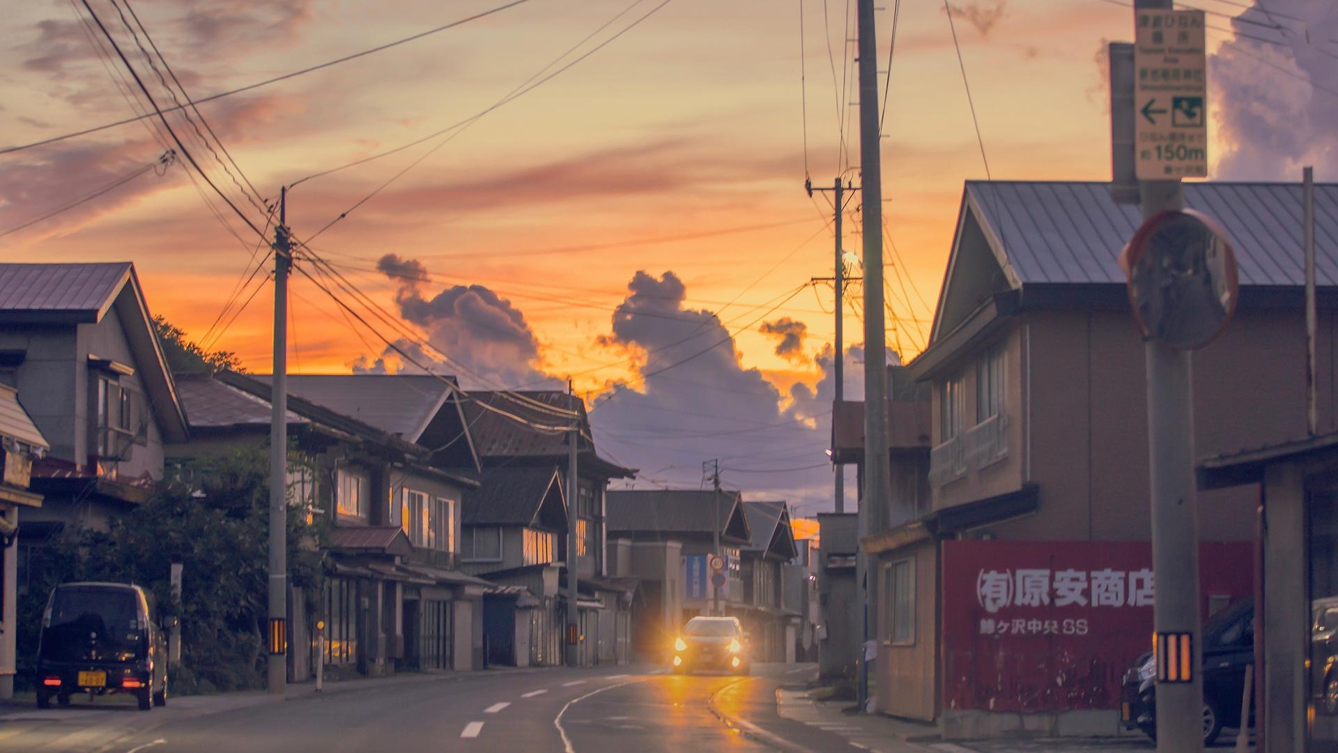
[[[1301,188],[1185,184],[1234,240],[1240,303],[1193,352],[1198,456],[1306,426]],[[1338,185],[1317,186],[1321,206]],[[929,510],[894,493],[878,557],[879,709],[947,736],[1115,734],[1148,648],[1144,343],[1116,257],[1141,220],[1101,182],[967,182],[929,347]],[[1334,427],[1338,248],[1319,245],[1321,426]],[[896,482],[894,481],[894,488]],[[1203,610],[1251,592],[1256,485],[1198,496]]]

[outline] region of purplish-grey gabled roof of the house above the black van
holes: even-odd
[[[0,264],[0,326],[95,324],[114,305],[163,438],[185,442],[186,415],[134,264]]]

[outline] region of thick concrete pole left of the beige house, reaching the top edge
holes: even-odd
[[[891,468],[887,457],[887,347],[883,326],[883,172],[878,113],[878,38],[874,32],[874,0],[859,0],[859,166],[864,240],[864,489],[859,504],[859,537],[878,529],[882,510],[890,504]],[[878,614],[875,583],[863,548],[855,560],[864,604],[864,640],[874,634],[870,622]],[[868,667],[860,647],[859,702],[868,701]]]

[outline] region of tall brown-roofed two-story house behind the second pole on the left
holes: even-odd
[[[585,401],[574,395],[555,390],[470,391],[460,407],[484,474],[478,494],[471,494],[468,502],[467,516],[478,521],[467,524],[470,531],[466,532],[476,547],[471,557],[475,560],[472,568],[480,573],[486,569],[486,577],[495,583],[526,588],[527,596],[538,602],[529,615],[516,612],[510,618],[515,623],[524,623],[526,618],[530,620],[526,661],[561,661],[561,651],[557,651],[561,646],[553,643],[553,635],[554,627],[561,631],[566,624],[566,568],[573,561],[578,576],[575,610],[581,665],[628,661],[634,581],[609,577],[606,490],[609,480],[630,478],[636,472],[598,454]],[[573,419],[562,414],[575,414],[574,421],[579,425],[574,481],[567,478],[569,433],[553,430],[571,425]],[[558,486],[550,484],[553,478]],[[490,484],[499,486],[490,489]],[[551,504],[551,498],[566,505],[566,515],[561,521],[554,516],[538,525],[527,513],[542,510],[541,502]],[[502,516],[490,509],[492,506],[519,510],[519,517],[510,512]],[[553,528],[558,524],[561,531]],[[567,552],[567,525],[577,527],[574,556]],[[508,533],[512,539],[520,537],[519,541],[508,544]],[[511,567],[495,567],[496,561],[486,561],[494,557],[494,537],[500,537],[500,556]],[[555,539],[551,553],[545,551],[550,537]],[[527,551],[545,552],[539,559],[527,556]],[[520,564],[507,560],[507,552],[520,555]],[[524,564],[526,559],[535,561]],[[557,568],[553,567],[554,560]],[[518,603],[527,603],[527,599]],[[524,643],[519,640],[515,624],[503,618],[504,608],[499,600],[492,610],[490,614],[495,619],[490,624],[495,635],[490,632],[490,646],[498,647],[502,661],[522,661],[524,651],[520,647]],[[510,648],[503,648],[508,643]]]

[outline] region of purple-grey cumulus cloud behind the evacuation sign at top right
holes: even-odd
[[[1232,25],[1280,44],[1238,36],[1210,59],[1208,100],[1216,107],[1218,134],[1226,145],[1216,177],[1295,181],[1303,165],[1334,176],[1338,98],[1317,86],[1331,90],[1338,80],[1338,59],[1326,48],[1338,39],[1338,5],[1272,0],[1266,8],[1275,13],[1243,11]],[[1287,31],[1260,31],[1263,20]]]

